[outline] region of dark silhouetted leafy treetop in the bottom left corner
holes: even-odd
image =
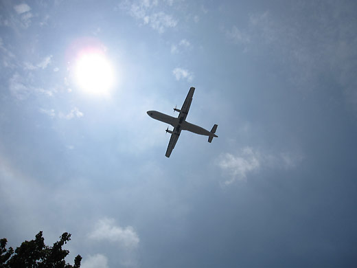
[[[14,251],[12,247],[6,249],[6,238],[0,239],[0,268],[79,268],[82,257],[74,258],[74,265],[66,264],[65,257],[69,254],[67,249],[62,249],[71,240],[67,232],[60,236],[60,241],[52,247],[45,245],[42,231],[36,234],[32,241],[21,243]]]

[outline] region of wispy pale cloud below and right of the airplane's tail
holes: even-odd
[[[294,168],[301,159],[301,156],[289,153],[275,155],[262,153],[260,150],[247,146],[235,155],[223,153],[218,158],[217,164],[229,174],[230,179],[224,181],[225,185],[229,185],[236,180],[246,181],[250,173],[258,172],[261,168]]]

